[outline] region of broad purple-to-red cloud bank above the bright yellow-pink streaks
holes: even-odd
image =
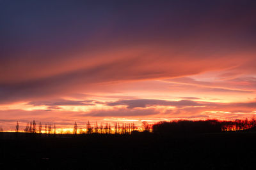
[[[109,81],[231,67],[255,73],[246,67],[255,61],[253,1],[1,3],[1,103],[88,92]]]

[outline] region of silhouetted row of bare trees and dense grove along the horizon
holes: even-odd
[[[170,122],[157,122],[155,124],[148,124],[142,122],[142,127],[137,127],[133,122],[126,124],[120,124],[115,122],[114,124],[91,123],[86,122],[85,128],[79,128],[77,122],[74,122],[74,128],[72,134],[132,134],[132,132],[154,132],[154,133],[202,133],[202,132],[223,132],[223,131],[243,131],[247,129],[256,129],[256,120],[253,117],[251,120],[245,118],[244,120],[172,120]],[[16,132],[19,132],[19,122],[17,121]],[[42,133],[45,134],[56,134],[56,124],[45,124],[41,122],[37,125],[35,120],[28,122],[24,132],[29,133]],[[59,133],[65,133],[61,130]]]

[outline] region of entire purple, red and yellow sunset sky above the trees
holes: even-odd
[[[256,114],[256,1],[0,0],[0,127]]]

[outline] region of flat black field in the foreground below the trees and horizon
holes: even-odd
[[[0,135],[0,169],[256,169],[254,132],[76,138],[22,134],[12,139]]]

